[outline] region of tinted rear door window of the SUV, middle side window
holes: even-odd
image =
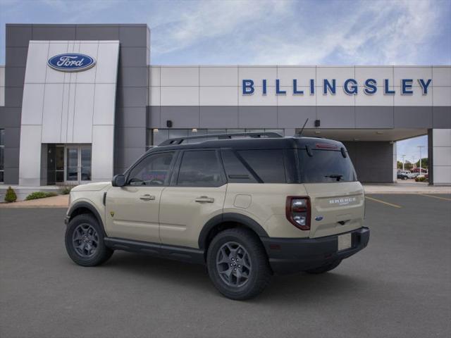
[[[184,151],[177,185],[182,187],[219,187],[224,184],[223,168],[216,150]]]

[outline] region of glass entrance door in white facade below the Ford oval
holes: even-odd
[[[66,182],[91,181],[91,146],[66,146]]]

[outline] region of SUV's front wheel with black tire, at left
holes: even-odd
[[[93,215],[82,214],[70,220],[66,228],[66,251],[78,265],[105,263],[113,254],[104,243],[104,231]]]

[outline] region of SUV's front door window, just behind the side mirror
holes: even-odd
[[[130,170],[127,184],[150,187],[168,185],[173,157],[173,152],[147,156]]]

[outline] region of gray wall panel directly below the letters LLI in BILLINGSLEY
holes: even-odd
[[[314,128],[316,120],[315,106],[279,106],[278,107],[278,123],[279,128],[302,128],[305,121],[306,128]]]

